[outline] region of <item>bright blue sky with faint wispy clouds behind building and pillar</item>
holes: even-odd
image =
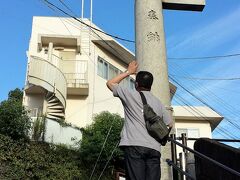
[[[57,0],[51,2],[61,5]],[[81,0],[64,0],[80,16]],[[89,2],[85,1],[85,17],[89,17]],[[64,8],[64,7],[62,7]],[[33,16],[61,16],[40,0],[8,0],[0,6],[0,101],[10,90],[22,88],[25,81],[26,50],[31,36]],[[104,31],[134,40],[134,1],[94,1],[93,22]],[[240,80],[191,80],[189,78],[240,77],[240,56],[215,59],[171,59],[205,57],[240,53],[240,1],[206,0],[203,12],[164,10],[169,73],[195,95],[233,121],[224,120],[220,127],[240,138],[238,112]],[[123,43],[134,52],[133,43]],[[192,105],[202,105],[181,88],[178,94]],[[174,104],[181,104],[174,100]],[[226,138],[214,132],[214,137]],[[228,138],[231,138],[231,137]],[[239,144],[238,144],[239,145]],[[235,146],[238,146],[235,144]]]

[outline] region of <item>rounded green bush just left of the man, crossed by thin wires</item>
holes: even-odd
[[[86,172],[88,177],[91,175],[106,137],[108,137],[94,171],[93,179],[97,178],[102,172],[116,144],[120,141],[122,124],[123,119],[119,115],[102,112],[94,117],[91,125],[82,129],[83,136],[80,142],[80,157],[83,164],[86,165],[86,169],[88,169]],[[123,159],[122,152],[117,148],[104,172],[106,179],[109,179],[107,176],[111,174],[116,162],[119,162],[121,159]]]

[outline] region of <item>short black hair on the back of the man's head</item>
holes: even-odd
[[[148,71],[139,71],[136,76],[138,87],[151,89],[153,83],[153,75]]]

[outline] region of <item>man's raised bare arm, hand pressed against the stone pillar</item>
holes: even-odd
[[[123,72],[107,81],[107,87],[112,91],[114,85],[119,84],[123,79],[125,79],[129,75],[136,74],[137,68],[138,68],[137,62],[132,61],[131,63],[129,63],[128,69],[126,72]]]

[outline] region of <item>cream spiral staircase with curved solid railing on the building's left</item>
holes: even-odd
[[[42,95],[43,114],[48,119],[65,119],[67,80],[58,67],[43,58],[30,56],[25,92]]]

